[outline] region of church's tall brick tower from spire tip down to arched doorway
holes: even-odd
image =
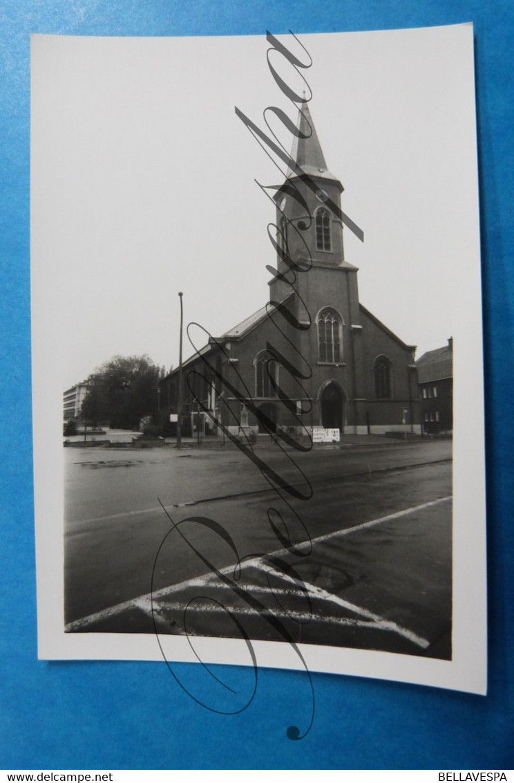
[[[311,373],[312,422],[343,430],[364,394],[358,269],[344,258],[343,185],[327,167],[306,101],[290,157],[275,194],[278,274],[269,283],[270,301],[298,325],[288,339],[294,361]]]

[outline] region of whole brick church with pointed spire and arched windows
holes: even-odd
[[[361,305],[343,250],[343,186],[325,163],[304,103],[286,181],[275,193],[269,301],[173,370],[161,400],[182,432],[312,428],[353,435],[420,432],[415,346]],[[270,262],[272,259],[270,259]],[[178,378],[182,377],[182,399]]]

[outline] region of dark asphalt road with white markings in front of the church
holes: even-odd
[[[451,442],[255,453],[66,449],[67,630],[449,658]]]

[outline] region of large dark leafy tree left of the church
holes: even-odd
[[[81,417],[112,428],[136,429],[157,410],[157,388],[164,376],[148,356],[114,356],[88,379]]]

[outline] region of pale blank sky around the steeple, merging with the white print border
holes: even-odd
[[[345,229],[361,302],[419,356],[464,330],[476,280],[469,27],[300,40],[325,160],[365,233]],[[264,35],[33,38],[34,349],[59,389],[116,354],[176,366],[179,290],[186,322],[215,336],[267,301],[275,213],[254,180],[283,177],[234,111],[296,121],[267,49]]]

